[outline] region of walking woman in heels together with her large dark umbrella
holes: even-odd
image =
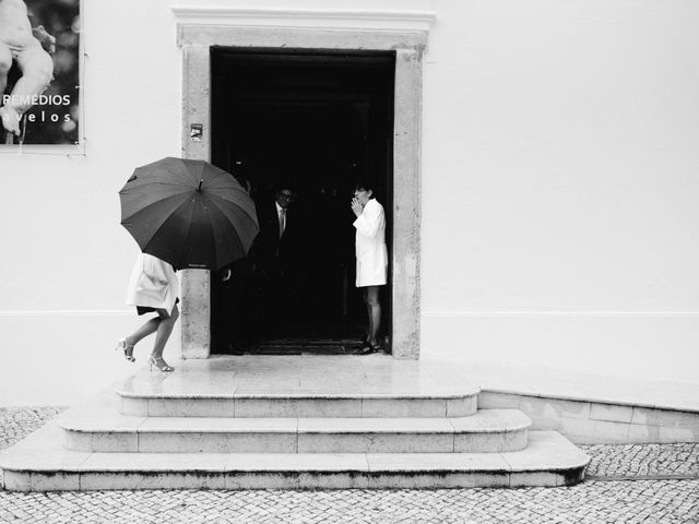
[[[179,270],[221,270],[247,255],[258,226],[254,202],[235,178],[208,162],[166,157],[137,167],[119,191],[121,225],[143,254],[129,282],[128,303],[156,312],[117,348],[133,360],[133,346],[156,333],[151,367],[173,371],[163,349],[179,314]]]

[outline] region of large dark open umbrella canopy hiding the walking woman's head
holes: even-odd
[[[138,167],[119,191],[121,225],[144,253],[178,270],[244,258],[259,229],[254,202],[204,160],[167,157]]]

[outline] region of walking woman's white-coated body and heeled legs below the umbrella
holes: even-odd
[[[179,315],[178,290],[179,281],[170,264],[147,253],[138,257],[129,279],[127,303],[135,306],[139,314],[155,312],[157,317],[117,342],[117,349],[123,353],[127,360],[134,362],[133,346],[155,333],[155,344],[149,356],[151,369],[155,366],[161,371],[175,370],[163,359],[163,350]]]

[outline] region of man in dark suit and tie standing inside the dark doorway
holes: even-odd
[[[291,210],[294,191],[280,187],[274,201],[257,205],[260,233],[256,240],[257,299],[254,323],[259,330],[275,330],[291,320],[296,309],[297,216]]]

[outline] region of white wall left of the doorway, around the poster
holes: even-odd
[[[125,306],[138,246],[117,193],[134,167],[179,155],[166,5],[84,2],[85,156],[0,154],[0,405],[74,403],[132,369],[111,350],[139,323]]]

